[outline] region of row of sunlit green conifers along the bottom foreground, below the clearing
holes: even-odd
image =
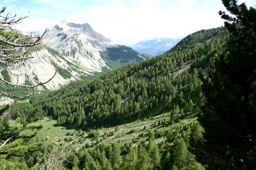
[[[189,148],[193,149],[191,143],[186,143],[184,139],[188,135],[188,141],[199,142],[200,138],[192,140],[194,134],[188,131],[195,125],[202,128],[198,122],[177,127],[167,134],[172,139],[163,140],[159,144],[149,138],[148,141],[140,141],[138,145],[103,142],[90,148],[81,148],[70,153],[65,166],[68,169],[205,169],[189,152]],[[202,132],[198,135],[202,136]]]

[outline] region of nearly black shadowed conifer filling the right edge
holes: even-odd
[[[202,161],[210,169],[256,167],[256,10],[223,0],[231,14],[220,11],[230,35],[203,78],[206,98],[200,122],[207,147]]]

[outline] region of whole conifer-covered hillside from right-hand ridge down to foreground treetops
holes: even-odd
[[[28,103],[15,103],[10,109],[12,118],[33,122],[47,116],[60,126],[82,129],[77,137],[67,134],[64,141],[57,141],[69,148],[63,162],[68,169],[204,169],[195,159],[199,152],[196,148],[204,141],[204,130],[196,120],[204,102],[198,71],[202,68],[205,73],[212,56],[223,51],[227,35],[224,27],[195,32],[156,58],[91,81],[70,83],[55,92],[36,94]],[[159,120],[157,115],[163,118]],[[135,129],[120,129],[134,121],[141,121]],[[33,131],[29,138],[40,141],[36,136]],[[118,140],[109,141],[113,136]],[[36,156],[30,153],[35,148],[31,147],[25,153],[36,162]],[[40,146],[37,153],[56,154],[50,152],[55,145],[47,147]],[[75,148],[76,152],[70,152]],[[57,147],[55,152],[62,154],[63,150]],[[21,164],[23,157],[17,154],[24,153],[12,152],[7,160],[16,157]],[[42,166],[51,159],[49,156],[35,165],[29,161],[22,166]]]

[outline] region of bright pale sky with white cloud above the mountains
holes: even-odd
[[[239,0],[247,6],[256,0]],[[184,37],[223,25],[221,0],[1,0],[0,7],[18,17],[20,31],[42,31],[62,20],[90,24],[113,43],[133,45],[152,38]]]

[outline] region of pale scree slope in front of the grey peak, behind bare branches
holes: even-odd
[[[83,69],[76,67],[75,63],[46,46],[29,48],[28,56],[33,56],[33,59],[24,60],[10,66],[9,70],[11,71],[7,74],[10,76],[11,83],[28,85],[45,82],[53,76],[55,69],[57,69],[58,73],[51,82],[45,84],[44,87],[40,87],[54,90],[71,80],[79,78],[80,73],[88,74]],[[53,62],[55,64],[52,64]],[[66,73],[65,76],[64,72]],[[3,74],[0,76],[4,78]]]

